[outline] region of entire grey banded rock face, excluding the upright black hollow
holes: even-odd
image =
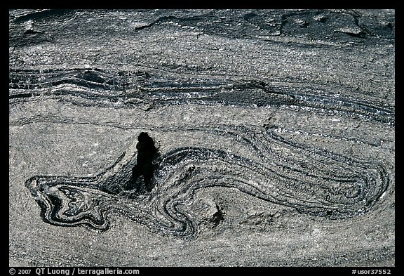
[[[394,21],[11,10],[9,265],[394,266]]]

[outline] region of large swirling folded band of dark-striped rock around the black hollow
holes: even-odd
[[[198,189],[236,188],[302,213],[341,219],[369,211],[389,185],[381,164],[307,148],[271,130],[257,133],[226,126],[192,131],[229,136],[247,145],[260,162],[222,150],[180,147],[157,161],[160,169],[154,176],[156,187],[147,198],[115,188],[123,187],[130,179],[133,159],[128,164],[120,164],[123,161],[119,159],[112,176],[34,176],[27,180],[27,188],[41,204],[43,219],[55,225],[83,224],[107,230],[105,217],[110,211],[118,211],[152,230],[187,237],[196,235],[197,225],[178,206],[193,199]],[[284,147],[283,151],[293,152],[295,158],[278,155],[271,150],[274,147]]]

